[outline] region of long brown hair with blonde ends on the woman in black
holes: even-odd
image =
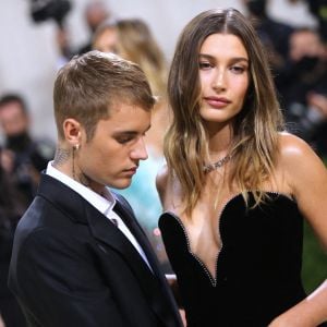
[[[177,44],[168,78],[168,97],[173,122],[165,138],[165,156],[170,175],[181,184],[185,213],[197,203],[208,159],[208,135],[199,116],[199,49],[215,33],[238,36],[250,59],[250,86],[233,126],[232,162],[229,182],[246,201],[255,191],[256,204],[264,198],[263,183],[274,174],[278,153],[278,132],[283,119],[276,97],[267,56],[251,24],[234,9],[209,10],[195,16]]]

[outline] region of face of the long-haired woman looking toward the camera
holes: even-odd
[[[199,113],[207,123],[232,122],[242,110],[249,88],[249,56],[239,37],[211,34],[198,56],[202,104]]]

